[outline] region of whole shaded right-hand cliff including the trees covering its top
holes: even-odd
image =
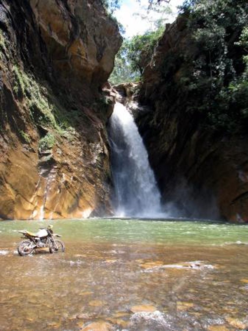
[[[247,1],[187,1],[143,73],[136,122],[162,201],[191,216],[247,221],[247,22]]]

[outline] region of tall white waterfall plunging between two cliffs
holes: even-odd
[[[160,193],[148,154],[133,117],[126,107],[115,104],[110,118],[114,205],[118,216],[162,216]]]

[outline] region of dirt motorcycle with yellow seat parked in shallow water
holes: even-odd
[[[26,230],[19,230],[25,240],[18,245],[18,253],[21,256],[32,254],[37,248],[49,248],[50,253],[65,252],[65,244],[62,240],[55,237],[62,237],[57,233],[53,233],[53,226],[48,225],[47,228],[40,228],[37,233],[32,233]]]

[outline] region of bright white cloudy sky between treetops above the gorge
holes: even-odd
[[[150,27],[150,23],[147,20],[142,20],[139,16],[133,15],[134,13],[146,13],[146,11],[142,10],[142,6],[147,6],[148,0],[140,0],[140,3],[141,4],[136,0],[123,0],[121,8],[114,14],[126,30],[125,37],[132,37],[135,34],[144,33]],[[170,1],[173,15],[168,17],[168,23],[174,21],[177,14],[176,6],[182,3],[183,0]]]

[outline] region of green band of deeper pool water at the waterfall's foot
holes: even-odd
[[[248,224],[198,220],[87,219],[56,221],[3,221],[0,238],[17,238],[16,231],[53,224],[69,241],[140,242],[168,245],[224,245],[247,242]]]

